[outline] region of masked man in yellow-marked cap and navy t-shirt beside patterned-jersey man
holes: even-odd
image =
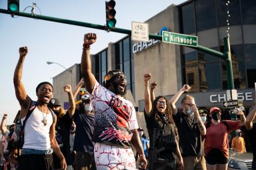
[[[96,169],[93,155],[95,143],[92,141],[95,114],[91,106],[90,96],[84,94],[77,104],[75,114],[69,114],[76,125],[73,145],[75,169]]]

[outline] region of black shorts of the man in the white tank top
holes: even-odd
[[[27,154],[19,159],[19,170],[53,170],[53,155]]]

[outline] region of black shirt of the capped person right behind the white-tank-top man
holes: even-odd
[[[69,113],[67,112],[62,118],[57,118],[57,122],[55,125],[55,139],[59,144],[59,148],[63,153],[67,165],[72,165],[71,161],[71,152],[70,152],[70,145],[69,145],[69,129],[72,122],[69,119]],[[56,155],[53,156],[54,159],[54,166],[55,168],[60,167],[60,160],[57,158]]]

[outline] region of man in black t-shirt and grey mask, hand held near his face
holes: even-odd
[[[203,143],[201,136],[205,135],[206,129],[199,115],[193,96],[185,95],[181,100],[182,112],[177,112],[175,103],[191,87],[187,84],[179,90],[171,99],[173,116],[179,131],[179,147],[183,157],[184,169],[206,170],[206,163],[203,154]]]

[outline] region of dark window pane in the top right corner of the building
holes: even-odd
[[[244,25],[256,24],[256,1],[255,0],[241,0],[242,16]]]

